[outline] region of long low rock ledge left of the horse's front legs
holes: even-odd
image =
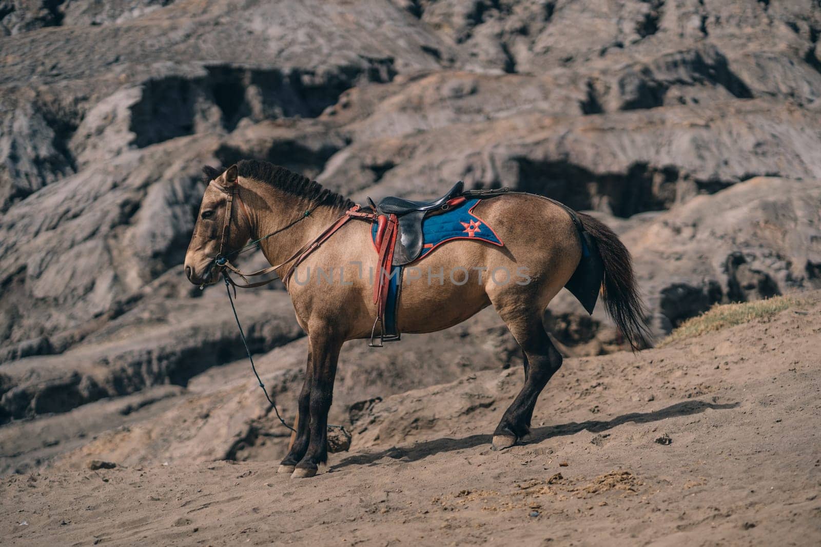
[[[210,367],[243,357],[234,318],[220,297],[214,293],[199,300],[152,299],[106,321],[83,343],[60,355],[3,365],[0,422],[67,412],[152,385],[187,385]],[[284,292],[242,304],[252,351],[266,351],[304,335]]]

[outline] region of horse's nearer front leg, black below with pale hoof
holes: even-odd
[[[333,380],[337,375],[339,350],[344,342],[331,335],[327,326],[312,327],[308,338],[313,369],[308,412],[303,413],[300,405],[300,422],[307,422],[309,429],[308,449],[296,464],[292,478],[314,476],[319,464],[328,461],[328,411],[333,400]]]

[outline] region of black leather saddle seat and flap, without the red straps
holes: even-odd
[[[425,215],[436,210],[447,210],[447,202],[461,196],[464,189],[465,183],[460,180],[447,194],[432,201],[411,201],[388,196],[375,205],[376,212],[396,215],[399,221],[397,244],[393,248],[393,266],[402,266],[419,258],[424,244],[422,220]]]

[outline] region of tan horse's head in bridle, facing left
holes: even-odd
[[[203,172],[209,184],[205,187],[185,262],[186,277],[194,285],[216,282],[220,268],[215,260],[229,258],[250,239],[249,219],[241,214],[236,165],[222,174],[209,166],[205,166]]]

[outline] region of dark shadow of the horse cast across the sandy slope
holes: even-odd
[[[704,401],[684,401],[672,404],[667,408],[661,408],[650,413],[629,413],[614,417],[612,420],[588,420],[586,422],[569,422],[559,426],[536,427],[530,431],[530,438],[526,444],[539,443],[551,437],[560,435],[575,435],[579,431],[590,431],[599,433],[607,431],[616,426],[621,426],[626,422],[648,423],[658,422],[669,417],[690,416],[691,414],[703,413],[708,408],[713,410],[726,410],[736,408],[739,403],[707,403]],[[433,454],[441,452],[451,452],[453,450],[475,448],[481,444],[490,444],[492,435],[469,435],[461,439],[445,437],[443,439],[425,440],[423,442],[397,448],[393,446],[380,452],[369,454],[355,454],[330,467],[329,471],[335,471],[347,465],[376,465],[382,458],[401,459],[403,462],[415,462],[422,458],[427,458]]]

